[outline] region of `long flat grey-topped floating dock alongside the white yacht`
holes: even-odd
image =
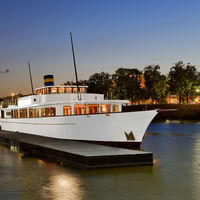
[[[62,165],[84,168],[153,165],[153,154],[86,142],[54,139],[19,132],[0,131],[0,142],[14,146],[25,155]]]

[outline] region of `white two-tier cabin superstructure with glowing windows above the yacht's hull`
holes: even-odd
[[[104,100],[103,94],[87,93],[87,86],[45,86],[36,95],[21,97],[17,105],[0,112],[1,118],[39,118],[121,112],[126,100]],[[78,95],[80,98],[78,98]]]

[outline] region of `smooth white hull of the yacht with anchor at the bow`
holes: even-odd
[[[0,119],[2,130],[58,139],[101,143],[110,146],[140,146],[157,111],[72,115],[43,118]]]

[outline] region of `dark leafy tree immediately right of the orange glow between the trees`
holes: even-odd
[[[146,99],[160,102],[167,96],[167,78],[160,73],[159,65],[149,65],[144,68]]]

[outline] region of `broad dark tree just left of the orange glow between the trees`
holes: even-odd
[[[141,71],[138,69],[119,68],[113,74],[113,93],[119,99],[131,99],[131,102],[141,100]]]

